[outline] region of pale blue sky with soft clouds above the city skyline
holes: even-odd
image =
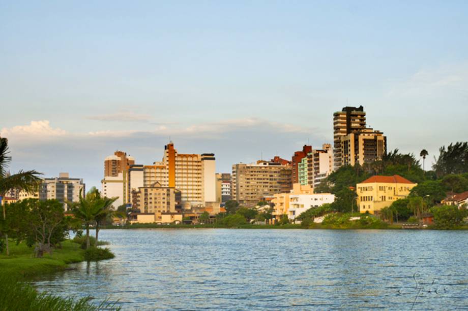
[[[388,149],[468,139],[466,1],[2,1],[0,135],[12,172],[100,187],[123,150],[217,171],[333,141],[363,105]]]

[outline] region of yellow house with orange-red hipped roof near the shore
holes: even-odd
[[[399,175],[372,176],[356,185],[359,211],[378,214],[393,201],[407,197],[409,191],[417,185]]]

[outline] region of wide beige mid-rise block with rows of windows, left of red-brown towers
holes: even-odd
[[[290,189],[291,166],[273,161],[232,165],[231,194],[234,200],[253,206],[265,197]]]

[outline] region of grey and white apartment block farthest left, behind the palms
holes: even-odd
[[[66,201],[78,202],[80,194],[85,194],[83,180],[70,178],[68,173],[60,173],[56,178],[45,178],[39,186],[40,200],[56,199],[64,203],[65,210],[68,210]]]

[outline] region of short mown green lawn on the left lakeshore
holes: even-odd
[[[62,249],[53,249],[52,255],[44,254],[43,258],[35,258],[33,248],[10,241],[10,256],[5,251],[0,254],[0,270],[2,274],[25,278],[64,269],[67,264],[80,261],[84,261],[84,250],[70,240],[62,243]]]

